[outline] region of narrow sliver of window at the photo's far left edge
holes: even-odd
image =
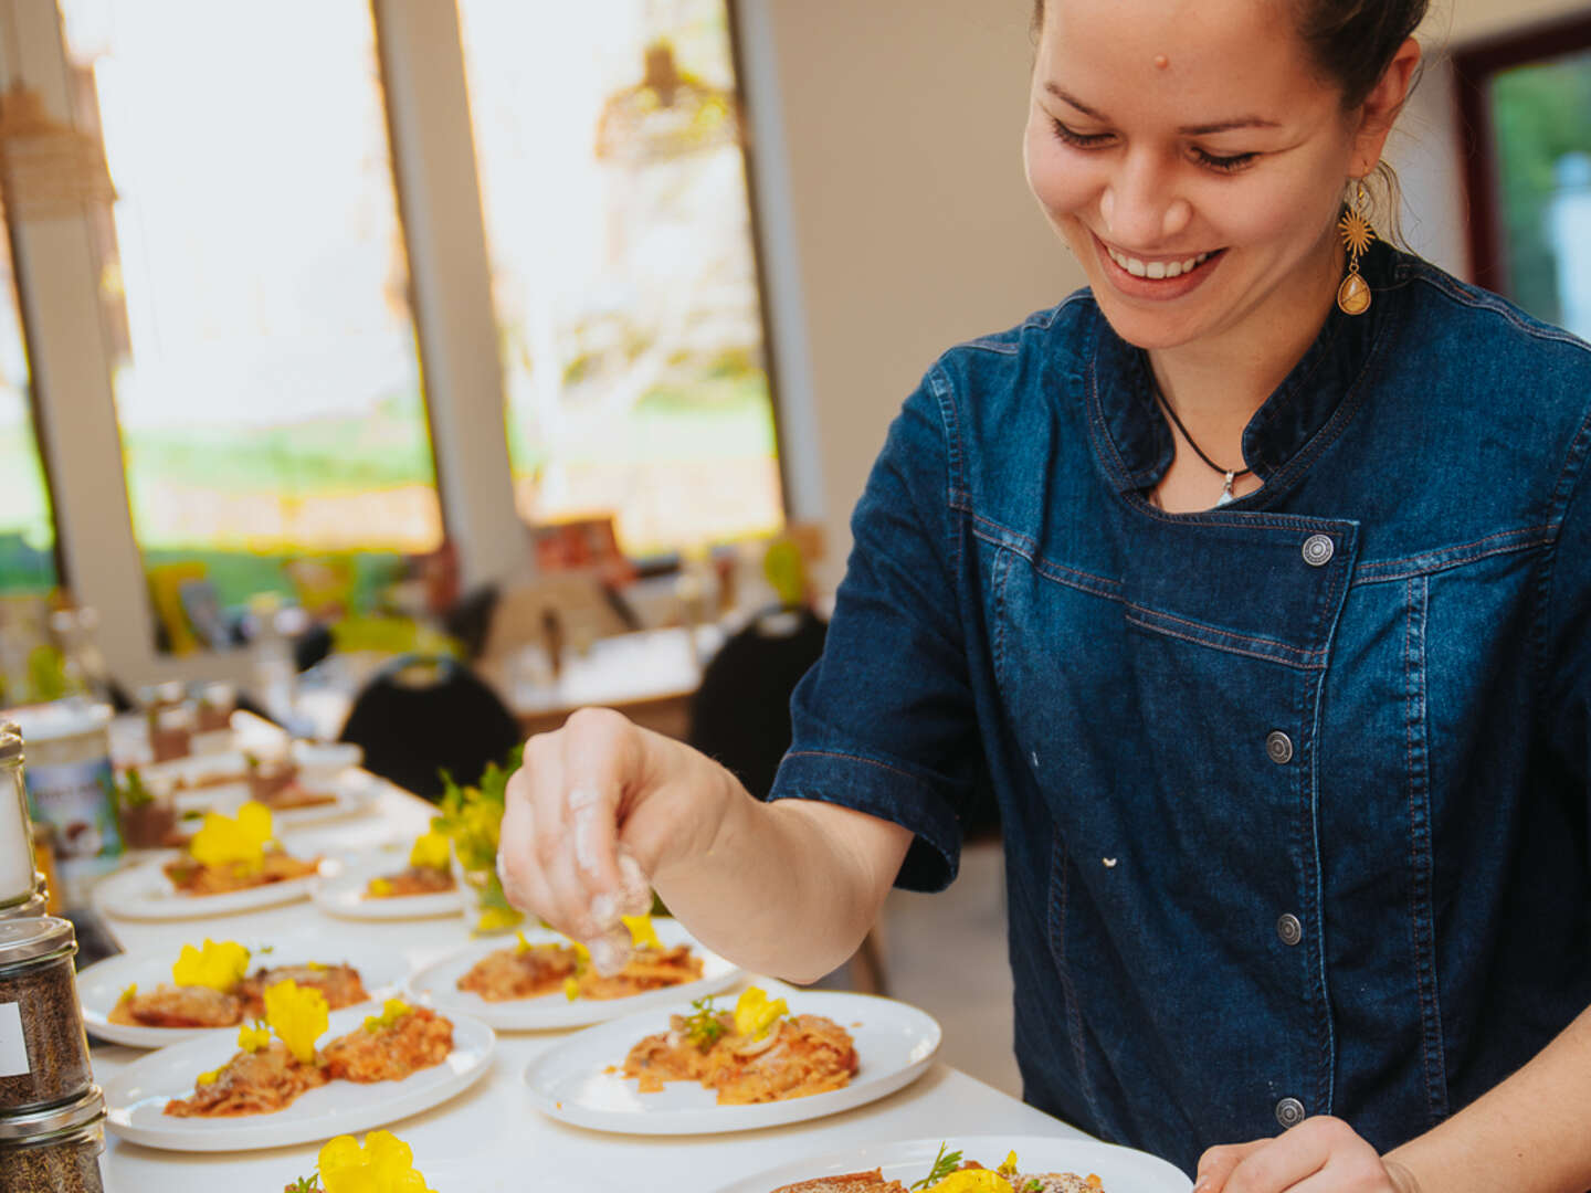
[[[0,593],[53,589],[56,522],[33,434],[11,240],[0,220]]]

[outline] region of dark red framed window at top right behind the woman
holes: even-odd
[[[1476,280],[1591,337],[1591,19],[1454,54]]]

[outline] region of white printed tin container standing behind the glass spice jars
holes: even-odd
[[[11,711],[27,740],[27,800],[54,826],[56,878],[64,907],[86,907],[89,888],[123,854],[110,797],[110,708],[57,700]]]

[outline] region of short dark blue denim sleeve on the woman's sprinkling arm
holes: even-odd
[[[910,829],[899,886],[955,878],[982,749],[951,507],[950,387],[929,374],[889,428],[851,517],[823,657],[791,700],[770,799],[838,803]]]

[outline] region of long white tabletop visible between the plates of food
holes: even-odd
[[[387,787],[371,811],[318,826],[331,848],[358,849],[422,832],[430,805]],[[325,845],[321,846],[325,848]],[[111,919],[130,953],[175,958],[204,935],[226,938],[313,938],[328,953],[339,945],[385,946],[418,967],[463,946],[463,918],[369,923],[336,919],[310,902],[212,919],[138,923]],[[955,1024],[943,1024],[947,1032]],[[969,1134],[1085,1139],[1074,1128],[945,1064],[905,1090],[856,1110],[808,1123],[722,1136],[619,1136],[568,1126],[531,1107],[525,1066],[563,1032],[500,1034],[492,1072],[442,1106],[388,1126],[414,1147],[415,1166],[438,1193],[563,1190],[706,1193],[743,1176],[803,1156],[843,1152],[891,1139]],[[108,1080],[146,1053],[94,1047],[94,1072]],[[315,1168],[318,1144],[264,1152],[189,1155],[126,1144],[108,1136],[103,1158],[111,1193],[275,1193]]]

